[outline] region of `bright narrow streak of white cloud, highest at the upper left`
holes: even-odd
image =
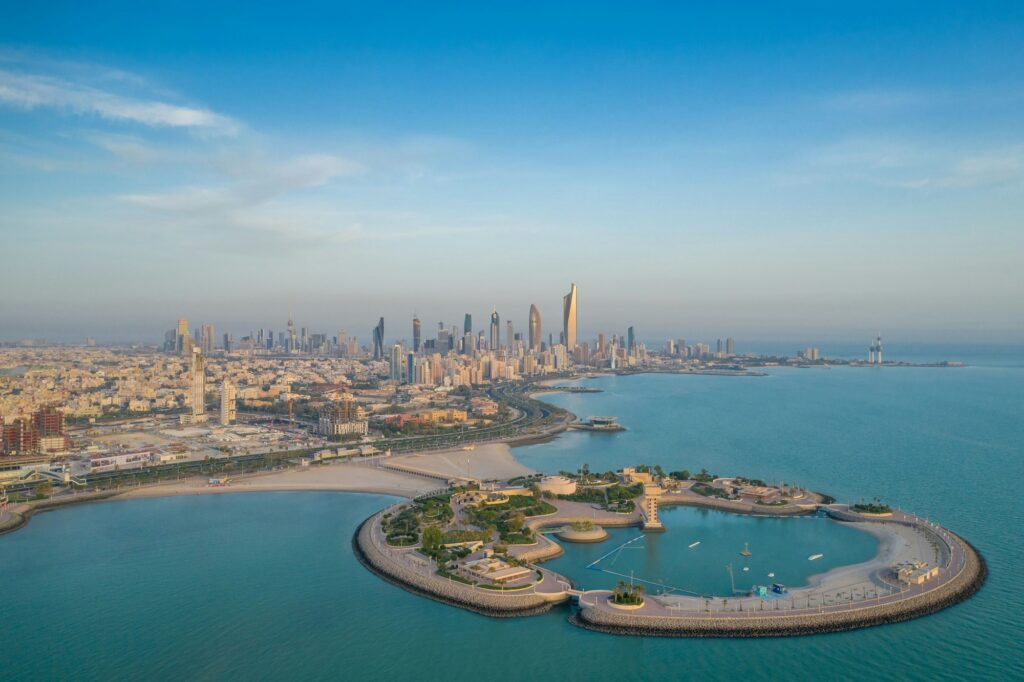
[[[10,70],[0,70],[0,103],[30,111],[49,108],[108,121],[205,134],[234,135],[241,129],[233,119],[201,106],[120,94],[59,76]]]

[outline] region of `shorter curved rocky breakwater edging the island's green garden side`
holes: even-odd
[[[554,604],[568,599],[564,592],[544,593],[534,589],[502,592],[415,570],[403,563],[400,550],[382,547],[383,539],[375,536],[380,522],[381,513],[364,521],[352,537],[352,549],[358,561],[369,570],[404,590],[497,617],[543,613]]]

